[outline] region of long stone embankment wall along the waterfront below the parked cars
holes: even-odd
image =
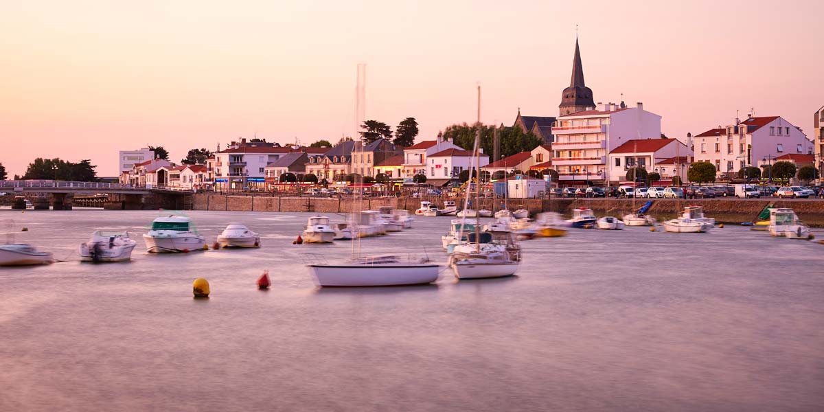
[[[349,213],[353,210],[391,206],[413,212],[420,207],[420,199],[414,198],[364,198],[360,201],[350,198],[319,197],[272,197],[255,195],[194,194],[191,202],[194,210],[246,211],[246,212],[316,212]],[[439,207],[442,199],[428,199]],[[541,212],[572,214],[574,208],[592,208],[598,216],[621,217],[640,208],[647,199],[508,199],[506,206],[512,210],[526,208],[534,216]],[[459,199],[456,199],[456,203]],[[779,199],[655,199],[648,214],[659,221],[675,218],[685,206],[704,206],[705,214],[718,222],[752,222],[768,204],[779,208],[794,208],[804,222],[816,227],[824,227],[824,201],[821,200],[779,200]],[[480,199],[480,208],[499,210],[503,199]]]

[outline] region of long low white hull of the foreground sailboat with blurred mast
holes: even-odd
[[[330,265],[309,265],[318,286],[400,286],[438,280],[439,266],[396,256],[364,257]]]

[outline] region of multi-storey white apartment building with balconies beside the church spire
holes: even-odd
[[[552,166],[561,182],[603,183],[623,178],[611,176],[608,153],[630,140],[660,138],[661,116],[644,110],[642,103],[635,107],[599,104],[595,110],[560,116],[555,120],[552,134],[555,135]]]

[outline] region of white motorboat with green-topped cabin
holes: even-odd
[[[146,250],[149,253],[176,253],[204,250],[204,236],[192,232],[192,219],[185,216],[157,218],[152,228],[143,234]]]

